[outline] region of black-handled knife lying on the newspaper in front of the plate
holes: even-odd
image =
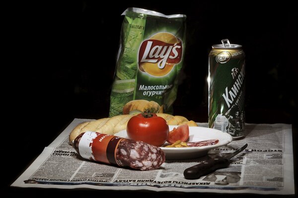
[[[217,156],[213,159],[208,159],[203,163],[199,163],[197,165],[189,167],[184,170],[183,175],[185,179],[198,179],[201,176],[212,173],[217,169],[226,168],[230,164],[229,159],[235,156],[236,154],[238,154],[239,152],[241,152],[242,150],[244,150],[246,147],[247,147],[247,144],[245,144],[241,148],[238,148],[235,152],[232,152],[225,157]]]

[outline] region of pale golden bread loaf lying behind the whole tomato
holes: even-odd
[[[187,124],[188,126],[198,126],[194,121],[188,121],[188,119],[183,116],[173,116],[166,113],[156,113],[156,115],[165,119],[168,125]],[[129,119],[133,116],[134,115],[116,115],[111,118],[101,118],[90,122],[80,123],[70,133],[69,141],[72,143],[79,134],[86,131],[95,131],[113,135],[121,130],[125,130]]]

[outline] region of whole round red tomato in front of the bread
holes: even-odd
[[[128,121],[126,131],[132,140],[160,147],[168,137],[169,126],[165,119],[155,113],[140,113]]]

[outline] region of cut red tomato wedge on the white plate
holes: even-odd
[[[186,142],[189,137],[189,128],[187,124],[180,125],[177,129],[174,127],[172,131],[169,132],[167,142],[174,144],[176,141],[181,140],[181,142]]]

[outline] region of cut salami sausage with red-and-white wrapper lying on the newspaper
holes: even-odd
[[[73,147],[85,159],[137,170],[154,170],[165,161],[165,154],[158,147],[90,131],[78,135]]]

